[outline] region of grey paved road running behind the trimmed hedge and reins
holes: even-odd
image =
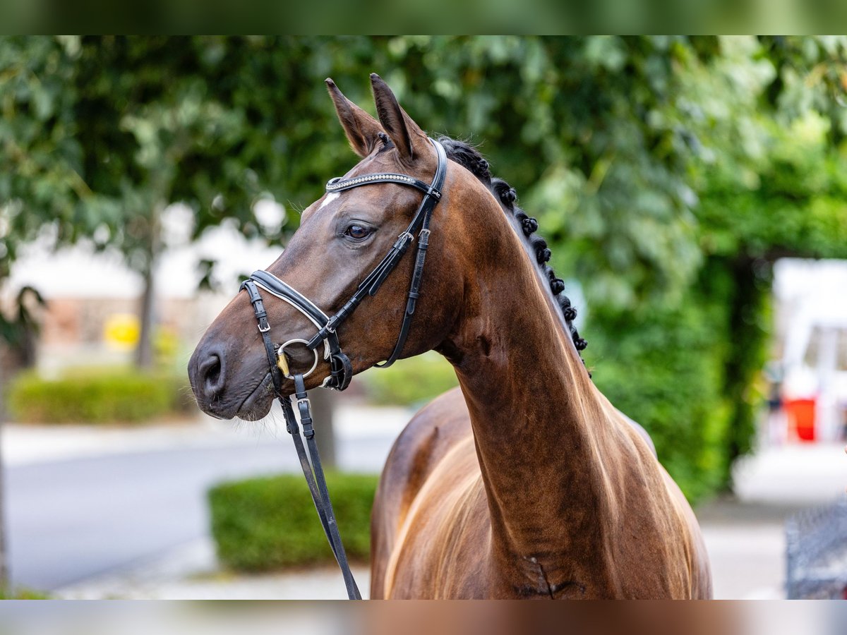
[[[340,465],[377,472],[392,439],[385,434],[346,439],[338,449]],[[208,487],[229,478],[298,470],[294,449],[285,441],[9,467],[14,583],[62,587],[205,535]]]

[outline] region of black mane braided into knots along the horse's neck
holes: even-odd
[[[588,345],[583,338],[579,336],[577,328],[573,325],[573,320],[577,317],[577,310],[571,306],[570,298],[564,294],[565,283],[561,278],[556,278],[556,273],[547,262],[550,261],[551,251],[547,247],[547,242],[539,235],[535,235],[538,230],[538,221],[531,218],[515,204],[518,200],[518,193],[503,179],[498,179],[491,176],[488,161],[479,153],[475,147],[464,141],[456,141],[448,136],[441,136],[439,140],[447,153],[447,157],[466,168],[473,176],[487,187],[498,202],[503,211],[509,213],[518,221],[524,240],[529,244],[531,251],[535,254],[535,259],[543,277],[550,281],[550,290],[556,298],[556,302],[562,311],[562,319],[567,326],[567,330],[571,334],[573,345],[576,346],[580,358],[582,351]]]

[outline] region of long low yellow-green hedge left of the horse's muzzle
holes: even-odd
[[[186,410],[186,382],[125,368],[83,369],[58,379],[21,373],[8,388],[12,417],[24,423],[137,423]]]

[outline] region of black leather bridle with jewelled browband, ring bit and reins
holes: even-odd
[[[376,364],[376,366],[380,368],[389,367],[401,355],[403,345],[406,344],[409,334],[415,305],[418,297],[420,297],[421,279],[424,277],[424,261],[426,260],[426,251],[429,246],[429,221],[432,218],[435,205],[440,201],[441,188],[444,185],[447,172],[447,156],[444,147],[434,139],[429,139],[429,141],[435,146],[435,152],[438,156],[438,167],[435,168],[435,176],[432,179],[432,183],[424,183],[424,181],[415,179],[407,174],[375,173],[363,174],[352,179],[336,177],[335,179],[330,179],[326,184],[326,191],[329,194],[377,183],[407,185],[424,192],[424,200],[418,207],[418,211],[412,218],[412,222],[397,237],[394,246],[391,247],[390,251],[374,270],[363,279],[358,285],[356,292],[345,302],[344,306],[341,306],[335,315],[329,317],[305,295],[302,295],[302,293],[294,289],[290,284],[285,283],[267,271],[253,272],[250,278],[241,284],[241,290],[246,290],[250,298],[253,312],[258,322],[259,333],[262,334],[265,352],[268,355],[268,364],[270,365],[270,376],[274,384],[274,395],[280,400],[280,406],[282,406],[283,415],[285,416],[285,427],[294,439],[294,445],[297,450],[297,456],[300,458],[303,474],[306,477],[315,508],[318,510],[318,518],[324,527],[324,533],[326,533],[326,537],[329,540],[329,546],[332,548],[335,560],[338,562],[341,573],[344,576],[347,596],[350,599],[362,599],[362,596],[359,594],[356,581],[353,579],[350,566],[347,563],[344,544],[341,542],[338,527],[335,524],[335,513],[332,509],[332,503],[329,500],[329,491],[326,487],[324,470],[321,467],[320,456],[318,455],[318,446],[314,441],[314,428],[312,426],[312,416],[309,410],[310,404],[306,395],[304,379],[318,366],[318,346],[323,345],[324,360],[329,361],[329,375],[324,379],[321,388],[344,390],[350,385],[353,374],[352,364],[350,363],[350,359],[341,351],[336,331],[340,324],[356,310],[356,307],[359,306],[361,301],[368,295],[375,295],[379,291],[379,287],[397,267],[409,245],[415,240],[415,234],[417,234],[418,249],[414,269],[412,270],[412,282],[409,284],[406,312],[403,314],[403,321],[400,326],[400,334],[397,337],[394,350],[391,351],[388,359],[385,362]],[[265,311],[262,295],[258,291],[259,289],[263,289],[270,295],[274,295],[280,298],[280,300],[287,302],[306,316],[315,328],[318,329],[312,339],[288,340],[275,347],[270,336],[268,312]],[[291,373],[288,367],[288,362],[285,358],[285,347],[295,343],[306,345],[307,349],[314,353],[315,360],[313,366],[307,373]],[[303,436],[307,442],[308,456],[303,447],[300,431],[294,416],[294,409],[291,406],[291,398],[288,395],[282,394],[283,378],[289,378],[294,381],[294,390],[297,398],[296,405],[300,413]]]

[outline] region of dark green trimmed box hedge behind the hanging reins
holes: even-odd
[[[326,480],[347,556],[367,560],[379,477],[330,472]],[[225,566],[267,572],[334,561],[302,475],[222,483],[209,490],[208,500],[212,535]]]

